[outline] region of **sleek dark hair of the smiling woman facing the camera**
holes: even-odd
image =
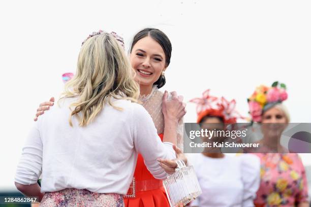
[[[172,44],[171,44],[171,41],[166,36],[166,34],[159,29],[145,28],[145,29],[139,31],[133,39],[130,52],[132,52],[134,45],[139,40],[141,40],[145,37],[148,37],[148,36],[160,44],[160,46],[162,47],[164,54],[165,54],[165,64],[166,64],[166,66],[168,66],[170,64],[170,61],[171,61]],[[153,85],[158,85],[158,88],[161,88],[165,85],[165,83],[166,83],[166,79],[165,79],[164,75],[161,75],[159,77],[159,79],[153,83]]]

